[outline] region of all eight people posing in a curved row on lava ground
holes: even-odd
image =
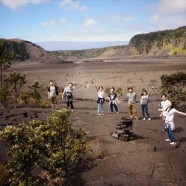
[[[96,86],[94,85],[97,90],[97,104],[98,104],[98,115],[104,115],[104,103],[106,101],[105,99],[105,93],[102,86]],[[67,87],[65,87],[63,93],[62,93],[62,100],[65,100],[67,104],[67,109],[70,107],[71,111],[74,110],[73,105],[73,90],[75,89],[75,85],[73,83],[69,83]],[[148,103],[149,103],[149,97],[151,95],[152,90],[154,89],[154,86],[150,89],[149,92],[146,90],[142,90],[141,97],[140,97],[140,106],[142,111],[142,117],[143,120],[146,120],[146,118],[150,121],[151,117],[148,112]],[[48,98],[51,101],[51,107],[52,109],[57,109],[57,95],[58,95],[58,89],[55,85],[54,81],[50,80],[50,85],[48,88]],[[132,87],[128,88],[128,93],[126,94],[126,99],[128,102],[128,109],[129,109],[129,115],[130,119],[135,118],[136,120],[139,120],[138,112],[136,108],[136,98],[137,95],[134,92]],[[112,87],[110,89],[110,93],[107,96],[107,99],[109,101],[110,111],[113,113],[119,113],[118,104],[120,101],[118,100],[117,93],[115,92],[115,88]],[[176,144],[176,137],[173,133],[175,129],[174,125],[174,115],[175,113],[185,115],[186,113],[180,112],[174,108],[174,103],[169,101],[166,94],[162,94],[162,101],[160,104],[161,108],[158,109],[161,114],[160,117],[162,117],[162,120],[164,121],[165,129],[168,134],[168,138],[166,141],[170,142],[171,145]]]

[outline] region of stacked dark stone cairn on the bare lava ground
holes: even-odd
[[[131,119],[127,119],[125,117],[121,118],[121,122],[117,124],[114,129],[114,133],[112,137],[123,140],[129,141],[134,139],[133,131],[132,131],[133,121]]]

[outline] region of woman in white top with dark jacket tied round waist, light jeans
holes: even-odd
[[[103,104],[105,102],[105,98],[104,98],[104,90],[102,86],[95,86],[97,89],[97,95],[98,95],[98,99],[97,99],[97,104],[98,104],[98,115],[104,115],[104,110],[103,110]]]

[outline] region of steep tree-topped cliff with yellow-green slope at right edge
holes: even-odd
[[[186,55],[186,26],[135,35],[129,46],[132,55]]]

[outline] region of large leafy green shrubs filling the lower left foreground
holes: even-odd
[[[9,147],[10,185],[42,186],[73,175],[87,152],[86,134],[69,121],[70,111],[53,112],[47,121],[7,126],[0,138]]]

